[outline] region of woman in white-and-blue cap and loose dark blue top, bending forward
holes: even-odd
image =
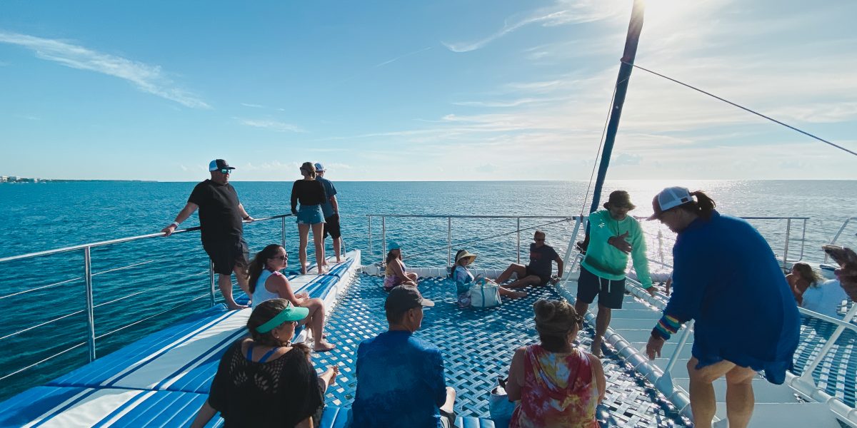
[[[660,356],[664,341],[695,320],[687,363],[693,425],[711,426],[716,412],[712,383],[726,377],[729,426],[747,426],[753,378],[764,370],[770,383],[781,384],[792,368],[800,339],[792,291],[764,237],[750,223],[715,211],[705,193],[668,187],[652,207],[649,219],[660,220],[678,236],[673,293],[651,331],[646,354],[652,360]]]

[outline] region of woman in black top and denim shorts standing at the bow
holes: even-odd
[[[309,228],[313,229],[313,243],[315,244],[315,264],[318,265],[319,274],[325,272],[327,262],[324,258],[324,213],[321,204],[327,200],[327,193],[321,181],[315,180],[315,165],[304,162],[301,165],[302,180],[295,181],[291,186],[291,213],[297,216],[297,232],[301,237],[301,273],[307,273],[307,241],[309,241]],[[301,202],[301,209],[297,210],[297,202]]]

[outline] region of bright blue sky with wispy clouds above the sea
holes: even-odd
[[[0,3],[0,175],[588,180],[632,0]],[[857,152],[853,0],[649,0],[636,64]],[[857,180],[635,69],[608,179]]]

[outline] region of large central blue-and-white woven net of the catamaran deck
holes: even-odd
[[[360,275],[340,297],[327,324],[327,336],[338,344],[333,352],[315,354],[315,366],[340,365],[339,384],[327,390],[327,404],[350,406],[357,379],[354,360],[363,339],[387,330],[381,276]],[[518,346],[538,342],[532,305],[538,299],[561,299],[553,287],[528,288],[524,299],[503,300],[489,309],[458,309],[455,285],[446,278],[423,278],[420,291],[434,300],[423,318],[419,336],[443,351],[446,384],[458,392],[458,414],[488,418],[488,391],[498,377],[506,377],[512,354]],[[592,331],[578,335],[588,348]],[[602,426],[685,426],[666,397],[658,393],[617,355],[604,359],[607,396],[598,407]]]

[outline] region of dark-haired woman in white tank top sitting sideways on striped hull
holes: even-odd
[[[305,307],[309,310],[309,316],[300,324],[307,324],[312,331],[313,350],[325,352],[336,348],[336,345],[324,339],[326,317],[324,300],[317,297],[310,298],[306,292],[295,294],[291,290],[289,278],[280,272],[288,263],[289,255],[285,253],[285,248],[277,244],[268,245],[261,252],[256,253],[248,269],[253,307],[270,299],[285,299],[291,301],[294,306]]]

